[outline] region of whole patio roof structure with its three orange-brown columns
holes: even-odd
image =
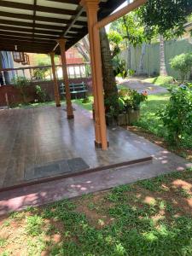
[[[108,148],[102,89],[99,29],[146,3],[136,0],[111,15],[125,0],[0,0],[0,50],[50,54],[56,106],[61,106],[54,55],[61,54],[66,86],[67,118],[73,108],[65,51],[89,32],[96,146]]]

